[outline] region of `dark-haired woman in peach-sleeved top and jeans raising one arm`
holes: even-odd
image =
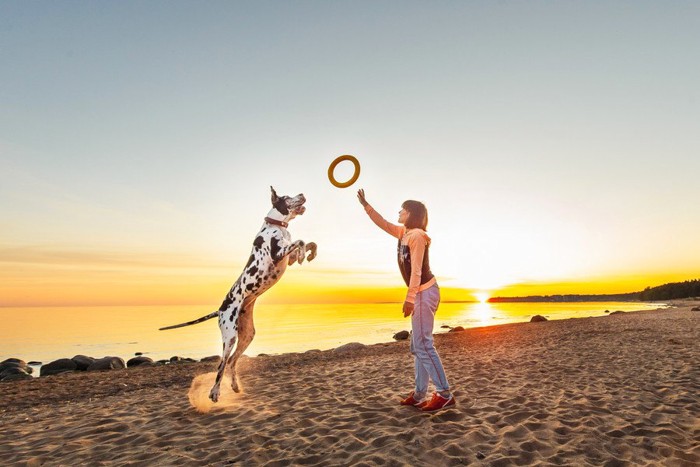
[[[386,221],[370,206],[365,199],[364,190],[357,192],[357,198],[379,228],[399,239],[399,270],[408,286],[403,315],[411,316],[411,352],[416,369],[416,387],[401,401],[401,405],[412,405],[425,412],[454,406],[455,399],[433,343],[433,324],[440,304],[440,288],[430,272],[430,237],[425,232],[428,227],[428,210],[419,201],[405,201],[399,211],[399,224],[402,225],[395,225]],[[436,392],[427,399],[429,380],[433,381]]]

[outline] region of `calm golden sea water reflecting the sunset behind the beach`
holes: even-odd
[[[658,303],[442,303],[435,332],[441,326],[480,327],[549,319],[603,316],[605,310],[656,309]],[[216,355],[221,336],[216,319],[169,331],[159,327],[207,314],[196,306],[112,306],[0,308],[0,361],[18,357],[48,363],[77,354],[119,356],[128,360],[142,352],[154,360]],[[279,354],[326,350],[348,342],[376,344],[410,330],[401,304],[266,305],[255,308],[256,336],[246,351]]]

